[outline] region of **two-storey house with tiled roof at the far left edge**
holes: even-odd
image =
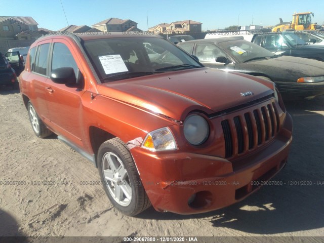
[[[0,16],[0,39],[36,39],[37,25],[32,17]]]

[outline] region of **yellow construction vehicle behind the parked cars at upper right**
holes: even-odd
[[[294,30],[319,30],[322,29],[317,23],[311,22],[311,16],[314,17],[312,12],[294,13],[292,22],[283,22],[280,18],[280,23],[272,28],[272,32],[285,31],[288,29]]]

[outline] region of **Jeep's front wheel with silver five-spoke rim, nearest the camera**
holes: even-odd
[[[135,216],[151,206],[133,157],[119,138],[99,147],[98,171],[112,205],[121,213]]]

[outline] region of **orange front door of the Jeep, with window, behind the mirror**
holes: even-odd
[[[53,41],[51,48],[50,73],[56,68],[72,67],[75,76],[78,70],[83,72],[80,63],[70,44],[63,40]],[[82,74],[79,74],[82,75]],[[84,94],[83,87],[69,87],[64,84],[56,84],[47,80],[47,104],[51,119],[51,128],[59,135],[73,142],[75,145],[82,145],[83,126],[81,97]]]

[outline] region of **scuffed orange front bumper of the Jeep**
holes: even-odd
[[[140,147],[131,152],[155,210],[195,214],[229,206],[258,190],[286,165],[291,132],[288,114],[276,138],[241,161],[181,151],[154,153]],[[244,166],[233,166],[240,162]]]

